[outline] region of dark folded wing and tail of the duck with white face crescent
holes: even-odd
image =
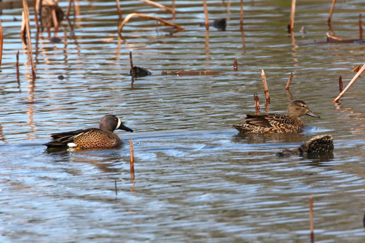
[[[68,148],[69,143],[73,143],[75,138],[80,136],[85,136],[88,133],[95,132],[100,130],[98,128],[88,128],[88,129],[80,129],[72,132],[64,132],[64,133],[53,133],[51,137],[53,138],[52,141],[47,142],[47,148]]]

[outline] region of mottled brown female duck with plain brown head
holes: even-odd
[[[286,115],[246,115],[246,123],[233,124],[232,126],[241,133],[292,133],[299,132],[304,128],[300,117],[310,115],[320,118],[309,110],[304,101],[292,101],[287,109]]]

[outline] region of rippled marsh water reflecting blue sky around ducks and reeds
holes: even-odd
[[[122,39],[116,34],[115,2],[78,2],[71,26],[63,21],[57,33],[61,43],[43,32],[37,46],[32,44],[34,82],[19,38],[22,9],[3,7],[1,242],[309,242],[311,194],[315,242],[364,242],[364,78],[340,106],[333,100],[338,76],[344,85],[350,81],[352,69],[364,63],[365,46],[313,44],[325,40],[330,1],[297,2],[297,46],[285,30],[289,1],[244,2],[243,40],[239,1],[231,1],[229,13],[221,1],[208,1],[211,20],[229,18],[227,31],[210,28],[208,48],[199,26],[200,1],[176,2],[171,21],[183,32],[170,34],[155,21],[135,17]],[[67,4],[59,5],[65,10]],[[336,36],[358,38],[364,7],[360,0],[336,3]],[[171,17],[139,1],[123,1],[123,17],[132,12]],[[132,81],[129,51],[134,65],[153,75]],[[299,134],[238,134],[230,124],[254,112],[253,94],[265,112],[261,69],[270,112],[284,113],[292,95],[321,119],[304,117],[307,127]],[[222,73],[161,75],[169,70]],[[65,79],[57,79],[61,74]],[[121,148],[69,152],[41,145],[49,133],[98,126],[107,113],[135,130],[116,132],[124,141]],[[333,154],[274,155],[319,134],[332,134]]]

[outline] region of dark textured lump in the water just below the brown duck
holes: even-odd
[[[312,137],[305,144],[294,149],[284,149],[276,153],[279,157],[288,157],[295,155],[328,153],[334,149],[333,138],[331,135],[319,135]]]

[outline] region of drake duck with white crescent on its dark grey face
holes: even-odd
[[[98,128],[80,129],[73,132],[53,133],[47,148],[117,148],[122,145],[116,129],[133,132],[122,124],[116,115],[104,115]]]

